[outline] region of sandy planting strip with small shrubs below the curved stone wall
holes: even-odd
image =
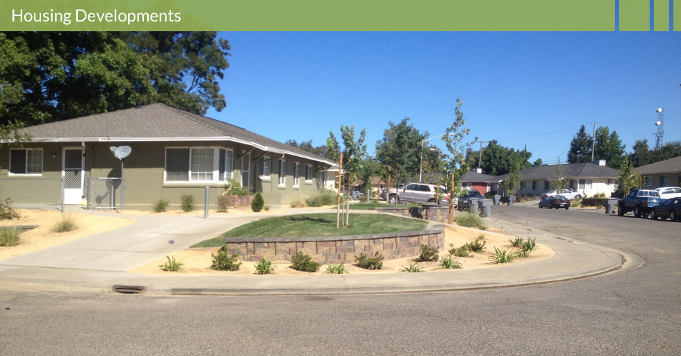
[[[473,257],[457,257],[457,260],[461,262],[461,269],[483,269],[491,267],[499,267],[507,264],[493,264],[490,262],[489,257],[494,252],[494,247],[496,248],[509,248],[512,249],[511,239],[509,236],[495,233],[495,232],[485,232],[481,230],[473,230],[468,228],[450,227],[445,228],[445,251],[441,251],[440,255],[448,257],[447,250],[450,246],[459,247],[471,241],[475,241],[477,237],[484,235],[486,240],[485,250],[482,253],[470,253]],[[531,237],[531,235],[530,235]],[[525,237],[523,237],[525,238]],[[183,263],[183,271],[181,272],[166,272],[161,269],[163,263],[166,262],[165,257],[158,259],[154,262],[150,262],[145,266],[140,266],[136,269],[132,269],[131,273],[163,273],[163,274],[175,274],[175,275],[204,275],[204,276],[247,276],[255,274],[255,262],[243,262],[238,271],[213,271],[211,263],[213,262],[213,257],[211,254],[216,254],[219,248],[202,248],[202,249],[191,249],[185,251],[177,251],[174,253],[175,259]],[[509,250],[510,251],[510,250]],[[552,249],[537,244],[535,251],[530,253],[530,257],[527,258],[517,258],[512,264],[529,263],[543,260],[545,258],[555,255],[555,251]],[[410,264],[418,264],[422,267],[423,272],[427,271],[442,271],[438,267],[437,262],[416,262],[413,258],[402,258],[399,260],[384,260],[383,269],[379,271],[369,271],[366,269],[361,269],[354,266],[354,261],[348,261],[345,263],[345,268],[351,274],[378,274],[378,273],[400,273],[401,269],[409,266]],[[274,275],[279,276],[315,276],[322,275],[325,273],[327,266],[322,266],[320,271],[315,273],[296,271],[290,268],[290,263],[274,263],[276,268],[274,269]],[[459,271],[452,270],[452,271]]]

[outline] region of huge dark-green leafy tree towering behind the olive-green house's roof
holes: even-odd
[[[0,125],[166,103],[222,110],[227,40],[212,32],[0,33]]]

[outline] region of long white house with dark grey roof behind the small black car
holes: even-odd
[[[617,171],[605,167],[605,161],[593,163],[561,164],[566,178],[566,188],[580,192],[583,197],[602,193],[611,196],[617,190]],[[520,170],[520,189],[516,194],[539,196],[550,191],[551,181],[556,178],[557,164],[529,167]],[[492,190],[505,192],[502,182],[509,173],[490,179]]]

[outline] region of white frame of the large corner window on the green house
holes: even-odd
[[[168,150],[171,149],[188,149],[188,167],[187,167],[187,180],[168,180]],[[192,152],[194,150],[213,150],[213,179],[192,179]],[[220,155],[224,150],[224,161],[220,160]],[[163,160],[163,183],[164,184],[206,184],[206,183],[224,183],[228,179],[233,178],[234,173],[234,150],[228,149],[223,146],[167,146],[165,147],[165,158]],[[224,169],[224,171],[221,171]]]

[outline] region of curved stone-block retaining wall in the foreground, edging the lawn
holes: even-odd
[[[291,256],[302,251],[316,262],[354,263],[360,253],[373,256],[378,251],[386,260],[394,260],[420,255],[422,244],[445,248],[445,226],[373,235],[230,237],[224,241],[227,243],[227,253],[238,253],[244,261],[259,262],[263,257],[275,262],[290,261]]]

